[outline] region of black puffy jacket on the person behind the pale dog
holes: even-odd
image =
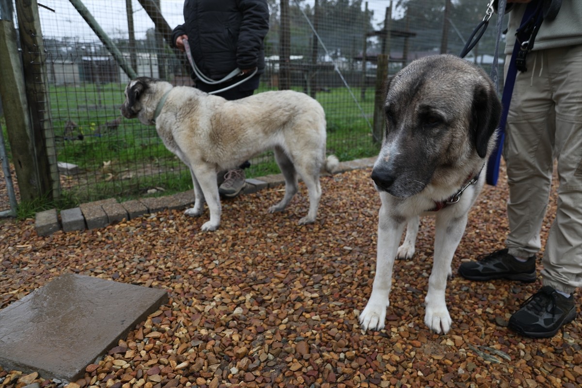
[[[196,66],[211,79],[237,67],[261,74],[268,30],[267,0],[185,0],[184,24],[172,31],[172,44],[186,34]]]

